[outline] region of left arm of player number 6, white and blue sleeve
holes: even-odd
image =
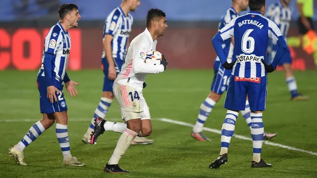
[[[227,40],[228,38],[233,37],[234,23],[235,23],[235,19],[231,20],[212,39],[212,45],[222,65],[228,64],[227,58],[223,52],[222,42],[224,40]]]

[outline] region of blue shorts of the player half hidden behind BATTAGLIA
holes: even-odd
[[[227,90],[232,70],[226,70],[221,65],[217,71],[214,71],[214,77],[211,84],[211,91],[222,94]]]

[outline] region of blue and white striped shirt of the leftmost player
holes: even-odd
[[[53,83],[62,83],[66,73],[66,66],[70,54],[70,35],[65,32],[59,22],[54,25],[45,38],[45,45],[42,55],[42,67],[39,76],[45,76],[44,58],[46,53],[53,54],[52,59],[52,80]]]

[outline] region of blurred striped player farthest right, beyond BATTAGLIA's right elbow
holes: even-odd
[[[285,41],[287,40],[289,24],[292,20],[292,10],[289,7],[290,1],[291,0],[280,0],[280,2],[275,2],[268,7],[267,12],[267,17],[279,26],[279,29],[281,30]],[[268,63],[270,63],[274,59],[277,49],[277,45],[272,45],[272,43],[269,43],[266,54]],[[307,96],[304,96],[297,91],[296,80],[292,73],[292,57],[289,50],[283,56],[279,65],[283,66],[285,70],[286,83],[288,86],[288,90],[291,93],[291,99],[307,100]]]

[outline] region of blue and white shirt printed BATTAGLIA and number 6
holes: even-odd
[[[272,43],[276,44],[279,37],[283,37],[276,23],[255,11],[232,19],[216,36],[223,41],[234,37],[237,62],[232,75],[244,78],[266,75],[261,59],[265,61],[268,40],[272,39]],[[219,58],[222,64],[226,60],[224,56]]]

